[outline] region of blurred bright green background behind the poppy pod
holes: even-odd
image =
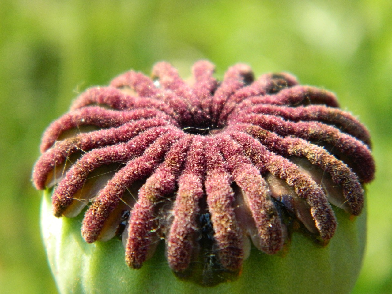
[[[392,1],[0,2],[0,293],[56,293],[30,177],[45,127],[86,87],[167,60],[245,62],[334,91],[372,133],[368,246],[354,289],[392,293]]]

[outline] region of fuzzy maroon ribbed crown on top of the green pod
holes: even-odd
[[[332,205],[355,219],[374,177],[367,129],[290,74],[213,74],[201,60],[185,81],[160,62],[151,78],[129,71],[80,94],[34,167],[54,216],[87,206],[84,240],[122,238],[134,269],[165,240],[169,268],[209,287],[241,279],[250,242],[272,255],[301,232],[327,246]]]

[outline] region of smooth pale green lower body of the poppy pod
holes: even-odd
[[[294,233],[289,248],[274,256],[253,248],[236,281],[201,287],[174,276],[162,242],[151,260],[132,270],[120,240],[87,244],[80,233],[81,217],[55,218],[49,193],[41,214],[49,264],[61,294],[347,294],[365,249],[366,213],[350,220],[336,209],[339,226],[326,247]]]

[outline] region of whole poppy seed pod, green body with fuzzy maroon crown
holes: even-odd
[[[192,72],[129,71],[45,131],[33,181],[60,292],[349,293],[367,129],[287,73]]]

